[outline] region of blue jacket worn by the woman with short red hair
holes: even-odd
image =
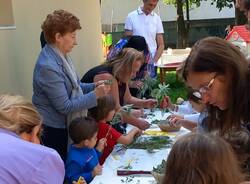
[[[53,128],[66,128],[67,114],[97,105],[94,83],[79,84],[84,95],[70,99],[72,84],[60,63],[53,59],[49,45],[41,51],[33,73],[32,102],[43,117],[43,124]]]

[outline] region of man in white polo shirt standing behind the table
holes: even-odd
[[[163,26],[161,18],[153,12],[159,0],[143,0],[143,6],[128,14],[125,35],[139,35],[146,39],[152,56],[151,64],[156,64],[164,50]],[[156,74],[156,72],[155,72]],[[154,77],[151,75],[151,77]]]

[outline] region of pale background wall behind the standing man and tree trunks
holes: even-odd
[[[141,4],[142,1],[140,0],[102,0],[102,24],[111,23],[112,10],[113,24],[124,23],[127,14],[137,9]],[[159,0],[158,5],[159,7],[155,9],[155,12],[160,12],[162,21],[176,20],[176,8],[173,5],[165,5],[162,3],[162,0]],[[234,16],[234,8],[224,8],[219,12],[215,5],[211,5],[210,1],[202,1],[199,8],[193,7],[190,10],[191,20],[232,18]]]

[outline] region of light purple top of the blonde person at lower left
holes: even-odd
[[[64,164],[55,150],[25,141],[1,128],[0,160],[0,183],[63,183]]]

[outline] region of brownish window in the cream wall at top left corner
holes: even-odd
[[[15,29],[11,0],[0,0],[0,29]]]

